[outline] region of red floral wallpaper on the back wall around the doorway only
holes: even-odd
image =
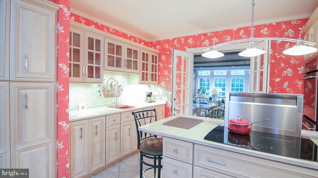
[[[269,23],[254,26],[254,37],[286,37],[298,38],[299,34],[304,36],[303,26],[306,19],[290,20],[284,22]],[[170,91],[171,83],[171,50],[185,51],[186,48],[198,48],[223,43],[226,41],[249,38],[250,27],[209,32],[186,37],[166,39],[153,42],[153,47],[160,51],[159,54],[159,85]],[[302,94],[304,70],[304,57],[292,57],[282,54],[285,48],[295,43],[273,41],[270,52],[270,93],[294,93]]]

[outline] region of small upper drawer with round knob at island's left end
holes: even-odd
[[[192,164],[193,144],[163,137],[163,156]]]

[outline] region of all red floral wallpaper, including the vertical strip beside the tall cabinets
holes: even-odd
[[[96,28],[105,33],[113,34],[121,38],[157,49],[159,54],[159,86],[167,95],[171,91],[171,64],[172,49],[185,51],[186,48],[211,46],[225,41],[249,38],[250,27],[228,29],[217,32],[194,34],[190,36],[165,39],[155,42],[147,42],[127,33],[107,27],[98,22],[70,13],[70,0],[51,0],[60,4],[57,44],[57,177],[69,178],[69,119],[68,119],[68,93],[69,93],[69,28],[70,20]],[[254,37],[289,37],[298,38],[308,18],[290,21],[269,23],[254,26]],[[291,57],[282,54],[289,42],[271,42],[270,54],[270,92],[271,93],[302,93],[304,58]],[[168,99],[169,100],[169,99]],[[169,101],[168,101],[169,103]],[[165,117],[170,115],[169,106],[165,106]]]

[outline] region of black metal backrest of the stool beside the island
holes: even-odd
[[[138,130],[138,128],[142,125],[157,121],[157,112],[156,112],[156,109],[143,110],[143,111],[132,112],[132,115],[134,115],[135,117],[135,123],[137,128],[138,149],[139,149],[139,145],[142,140],[150,138],[150,137],[157,137],[157,135]]]

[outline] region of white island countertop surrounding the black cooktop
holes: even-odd
[[[168,120],[175,119],[178,117],[203,119],[204,121],[190,129],[183,129],[183,128],[172,127],[172,126],[167,126],[162,124],[163,122],[166,122]],[[297,165],[301,167],[318,170],[318,162],[315,162],[315,161],[264,153],[260,151],[254,151],[250,149],[245,149],[245,148],[240,148],[240,147],[231,146],[227,144],[204,140],[204,137],[218,124],[223,125],[224,120],[203,118],[203,117],[196,117],[196,116],[189,116],[189,115],[175,115],[166,119],[161,119],[156,122],[149,123],[147,125],[143,125],[139,127],[139,130],[161,135],[163,137],[175,138],[175,139],[184,140],[184,141],[188,141],[188,142],[192,142],[196,144],[211,146],[211,147],[220,148],[220,149],[224,149],[224,150],[228,150],[232,152],[237,152],[241,154],[246,154],[250,156],[260,157],[264,159],[269,159],[273,161],[278,161],[278,162],[283,162],[287,164],[293,164],[293,165]],[[312,138],[312,140],[315,142],[318,140],[318,134],[312,133],[312,132],[313,131],[307,133],[305,131],[304,134],[307,134],[308,137]]]

